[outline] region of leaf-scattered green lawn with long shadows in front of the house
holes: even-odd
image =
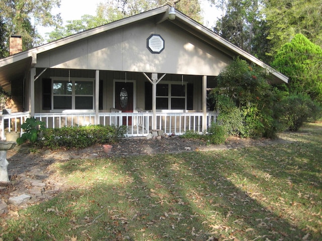
[[[321,240],[322,125],[238,150],[70,160],[0,240]],[[20,239],[19,239],[20,238]]]

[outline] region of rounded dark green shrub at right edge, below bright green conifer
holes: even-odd
[[[321,115],[321,107],[307,95],[293,94],[281,101],[284,121],[290,131],[298,131],[304,123],[314,121]]]

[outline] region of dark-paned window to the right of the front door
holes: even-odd
[[[156,85],[157,109],[186,109],[187,84],[162,83]]]

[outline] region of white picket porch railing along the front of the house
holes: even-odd
[[[216,122],[218,113],[207,112],[207,127]],[[202,133],[207,127],[203,127],[202,112],[157,112],[156,129],[164,133],[182,135],[186,131]],[[25,119],[30,117],[29,112],[2,115],[2,130],[5,130],[5,123],[12,131],[17,131]],[[152,112],[137,109],[136,112],[120,112],[114,109],[112,112],[99,113],[98,119],[94,112],[90,113],[36,113],[36,119],[46,123],[46,128],[61,128],[64,126],[87,126],[100,124],[103,126],[127,126],[128,137],[145,137],[152,128]],[[14,127],[14,128],[13,128]],[[4,134],[2,134],[4,140]]]

